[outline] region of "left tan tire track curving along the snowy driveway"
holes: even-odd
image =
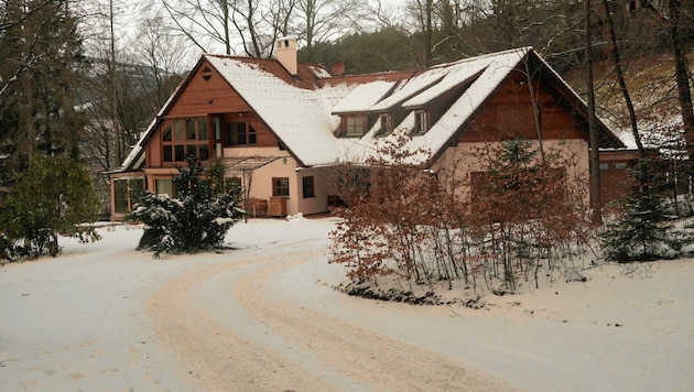
[[[199,265],[162,286],[148,305],[154,331],[203,390],[284,391],[296,385],[326,390],[326,384],[295,363],[215,322],[195,302],[196,292],[209,279],[257,261]]]

